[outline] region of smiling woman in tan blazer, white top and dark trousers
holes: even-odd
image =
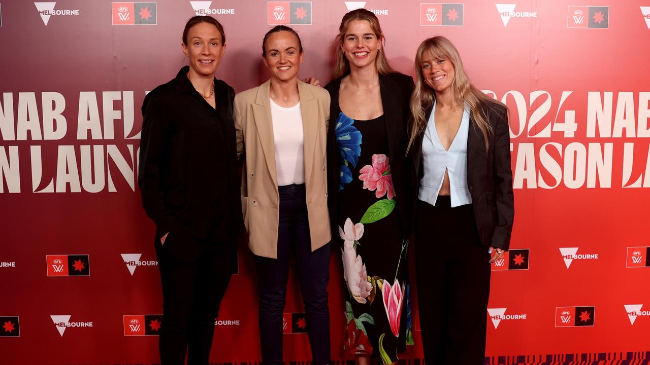
[[[316,364],[330,362],[327,284],[330,219],[326,136],[330,95],[298,80],[300,37],[284,25],[266,33],[270,79],[235,96],[237,152],[245,155],[242,207],[259,279],[264,364],[282,364],[282,311],[289,258],[296,256],[307,333]],[[291,325],[291,324],[289,324]]]

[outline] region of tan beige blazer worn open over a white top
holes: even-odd
[[[278,258],[278,173],[268,100],[270,80],[235,95],[237,155],[245,155],[242,210],[248,247],[255,255]],[[326,144],[330,94],[298,81],[304,133],[305,186],[311,251],[330,242],[327,205]],[[296,131],[297,132],[297,131]]]

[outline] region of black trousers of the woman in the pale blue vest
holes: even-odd
[[[480,365],[486,348],[491,268],[472,205],[435,207],[418,200],[415,264],[424,360],[427,365]]]

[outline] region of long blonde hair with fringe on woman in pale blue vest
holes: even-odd
[[[417,136],[426,129],[427,120],[424,119],[424,111],[426,108],[431,107],[435,100],[434,90],[424,83],[424,76],[422,75],[422,62],[428,56],[447,60],[454,65],[455,77],[449,87],[454,90],[456,105],[467,105],[469,107],[475,127],[478,127],[483,134],[487,151],[489,136],[494,133],[492,126],[489,124],[489,114],[498,112],[499,105],[503,104],[490,99],[486,94],[474,87],[469,81],[467,73],[465,73],[458,50],[443,36],[427,38],[417,47],[417,53],[415,53],[415,89],[411,94],[413,124],[411,125],[411,136],[409,136],[406,151],[408,152],[411,149]]]

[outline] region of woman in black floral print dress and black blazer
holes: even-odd
[[[328,205],[350,293],[344,348],[361,365],[371,356],[395,362],[406,337],[404,163],[413,80],[390,68],[383,40],[372,12],[348,12],[337,36],[333,81],[325,87],[334,121],[328,131]]]

